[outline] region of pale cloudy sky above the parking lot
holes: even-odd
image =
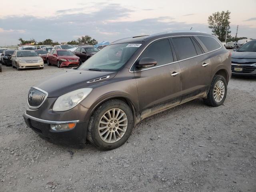
[[[242,6],[242,7],[241,7]],[[231,35],[256,39],[256,0],[3,0],[0,46],[18,38],[68,42],[89,35],[98,42],[173,30],[211,33],[208,16],[229,10]]]

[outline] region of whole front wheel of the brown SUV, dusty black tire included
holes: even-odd
[[[111,110],[112,112],[111,116],[112,116],[113,115],[112,109],[115,109],[114,117],[117,117],[116,120],[120,116],[122,117],[119,119],[120,123],[116,122],[116,120],[113,119],[115,122],[112,121],[111,126],[109,126],[110,121],[108,122],[107,120],[105,120],[103,118],[103,115],[106,114],[106,116],[108,116],[107,113],[109,110]],[[118,110],[120,111],[118,112]],[[102,122],[102,119],[104,119],[104,124],[100,124],[100,122]],[[100,125],[104,126],[105,122],[107,122],[107,125],[106,125],[107,128],[99,130]],[[118,126],[117,126],[117,123],[118,123]],[[127,125],[127,126],[124,126],[124,125]],[[89,140],[92,144],[94,144],[100,150],[112,150],[112,149],[118,148],[128,140],[130,134],[132,133],[133,126],[134,126],[134,119],[133,119],[133,114],[130,107],[121,100],[111,99],[100,104],[100,106],[96,108],[96,110],[93,112],[92,116],[90,117],[88,130],[87,130],[87,140]],[[121,128],[122,130],[125,130],[125,132],[120,131],[119,128]],[[110,132],[110,130],[112,132]],[[103,136],[101,137],[100,134],[102,134],[105,131],[106,131],[106,134],[103,134]],[[103,137],[105,137],[106,135],[107,135],[107,139],[106,141],[104,141]],[[114,140],[114,136],[116,136],[116,139],[115,139],[116,141]],[[109,140],[111,141],[109,142]]]

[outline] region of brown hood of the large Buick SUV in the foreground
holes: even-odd
[[[48,97],[59,97],[70,91],[80,88],[90,87],[93,84],[105,82],[116,75],[117,72],[100,72],[86,70],[71,70],[68,72],[60,72],[42,80],[35,86],[48,92]],[[105,80],[87,83],[90,80],[110,76]]]

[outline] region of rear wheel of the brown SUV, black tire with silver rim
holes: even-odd
[[[217,89],[220,86],[222,89]],[[223,88],[224,86],[224,88]],[[223,93],[224,90],[224,93]],[[203,99],[204,103],[206,105],[212,106],[212,107],[218,107],[222,105],[226,99],[227,96],[227,81],[222,75],[215,75],[210,90],[207,94],[207,99]],[[214,98],[214,96],[216,96]]]

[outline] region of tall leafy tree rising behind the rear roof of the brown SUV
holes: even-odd
[[[217,36],[220,41],[225,41],[226,29],[227,38],[230,38],[230,11],[215,12],[208,17],[209,28],[212,29],[212,34]]]

